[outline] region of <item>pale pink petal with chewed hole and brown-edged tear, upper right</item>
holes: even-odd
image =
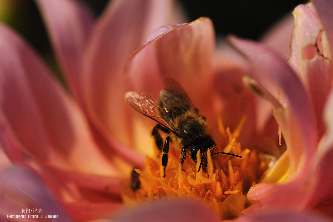
[[[325,44],[323,25],[312,3],[297,6],[293,14],[295,25],[288,62],[308,91],[320,138],[325,132],[322,116],[325,99],[333,80],[332,62],[322,54],[329,46]],[[321,51],[319,46],[323,47]]]

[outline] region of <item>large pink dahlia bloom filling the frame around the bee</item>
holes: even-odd
[[[150,136],[154,122],[131,110],[124,94],[127,90],[158,93],[161,79],[167,76],[184,87],[207,118],[219,148],[243,152],[241,144],[279,157],[272,167],[265,166],[268,170],[260,181],[257,175],[248,178],[249,186],[254,185],[246,191],[252,205],[242,212],[245,215],[238,215],[240,221],[329,221],[311,210],[332,212],[333,178],[325,174],[333,162],[331,3],[317,0],[314,6],[310,3],[295,9],[291,57],[286,63],[268,46],[236,38],[230,38],[231,43],[248,60],[231,53],[226,59],[223,52],[215,51],[213,26],[207,18],[164,26],[143,44],[156,27],[174,23],[164,20],[167,15],[161,12],[165,7],[149,7],[148,1],[114,1],[95,23],[73,1],[37,2],[72,95],[51,77],[26,43],[0,26],[0,141],[11,161],[25,166],[1,174],[0,185],[7,193],[1,196],[1,203],[7,203],[0,205],[1,217],[19,214],[19,207],[36,206],[59,215],[61,221],[101,218],[117,211],[122,206],[119,182],[129,177],[133,166],[145,168],[142,154],[156,155]],[[145,20],[143,15],[149,9],[151,17]],[[162,19],[154,19],[156,16]],[[251,91],[271,102],[276,121],[271,106]],[[282,148],[277,146],[278,127]],[[282,153],[284,148],[287,151]],[[242,161],[260,159],[253,153],[250,149]],[[262,160],[255,162],[260,163],[257,168],[245,168],[250,169],[246,172],[258,173],[265,163]],[[193,165],[186,164],[187,170]],[[242,174],[240,170],[230,173],[234,166],[229,167],[227,182],[232,188],[237,185],[229,184],[235,181],[231,177]],[[202,181],[211,183],[217,175],[207,166],[208,176],[200,171],[194,178],[176,167],[169,166],[168,173],[185,174],[182,182],[187,179],[199,188],[206,187]],[[242,167],[240,164],[239,169]],[[202,181],[196,183],[197,178]],[[164,183],[162,178],[158,180]],[[240,180],[244,187],[245,179],[237,182]],[[163,185],[166,193],[174,191],[167,187],[175,188],[174,184]],[[179,188],[185,187],[178,187],[183,195]],[[205,190],[204,198],[242,195],[239,187],[224,194],[215,188]],[[128,193],[123,197],[131,198]],[[214,207],[192,199],[170,199],[140,204],[118,220],[220,221],[221,215],[211,210]]]

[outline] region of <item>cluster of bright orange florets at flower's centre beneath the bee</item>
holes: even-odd
[[[131,187],[131,180],[123,181],[124,203],[133,205],[160,199],[194,198],[205,202],[221,219],[237,218],[250,205],[247,191],[259,181],[270,163],[263,153],[254,148],[251,151],[243,148],[238,141],[245,120],[244,117],[231,132],[218,119],[219,131],[227,143],[223,148],[217,147],[216,151],[233,153],[242,158],[224,154],[212,156],[208,149],[207,166],[197,172],[200,151],[196,163],[187,157],[181,166],[181,149],[170,144],[166,177],[161,164],[162,154],[157,150],[153,156],[146,157],[144,169],[135,169],[140,183],[138,188]]]

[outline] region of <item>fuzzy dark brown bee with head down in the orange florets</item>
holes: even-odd
[[[180,164],[184,163],[189,150],[191,159],[196,163],[196,154],[200,150],[201,167],[207,166],[207,150],[212,156],[227,154],[241,158],[236,154],[216,152],[216,144],[209,135],[209,126],[204,116],[199,115],[185,90],[173,79],[163,80],[163,89],[158,98],[149,93],[127,92],[125,100],[141,114],[155,120],[158,124],[152,131],[157,147],[163,152],[162,166],[164,177],[168,161],[169,143],[181,148]],[[160,131],[168,134],[164,144]]]

